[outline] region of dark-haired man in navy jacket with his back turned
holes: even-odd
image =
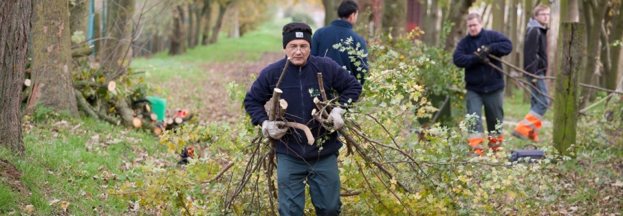
[[[338,7],[338,19],[332,21],[331,25],[322,27],[314,32],[314,37],[312,37],[312,56],[326,55],[338,62],[338,64],[345,66],[346,69],[363,84],[365,75],[369,70],[367,57],[368,49],[366,48],[366,40],[353,31],[353,25],[357,22],[358,7],[357,3],[353,0],[342,1],[340,7]],[[341,43],[342,40],[346,41],[347,38],[353,39],[353,48],[357,48],[357,44],[360,44],[359,49],[361,49],[366,56],[363,58],[359,56],[349,56],[347,51],[340,51],[333,48],[333,45]],[[351,57],[356,58],[359,65],[351,61]]]

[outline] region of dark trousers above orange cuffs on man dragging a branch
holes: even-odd
[[[476,123],[470,127],[470,131],[483,133],[483,120],[482,110],[485,107],[485,117],[487,118],[487,131],[492,132],[495,130],[495,125],[502,123],[504,119],[504,88],[490,92],[490,93],[477,93],[475,91],[468,90],[465,95],[467,112],[468,114],[478,115]],[[502,131],[492,132],[492,134],[501,134]]]

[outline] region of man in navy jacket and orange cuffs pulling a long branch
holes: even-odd
[[[468,14],[467,26],[469,35],[457,44],[453,60],[457,67],[465,68],[465,88],[467,88],[466,105],[468,114],[476,114],[476,123],[470,127],[469,145],[472,152],[483,155],[484,141],[482,125],[482,108],[485,107],[489,147],[497,151],[502,145],[502,130],[496,130],[496,124],[504,119],[503,92],[504,77],[489,64],[502,68],[501,62],[490,60],[489,54],[506,56],[513,49],[510,40],[493,30],[483,29],[479,14]],[[477,55],[474,55],[477,52]]]

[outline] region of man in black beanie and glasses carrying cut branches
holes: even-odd
[[[280,215],[303,215],[305,207],[305,182],[318,215],[339,215],[340,175],[338,150],[342,143],[335,130],[342,128],[345,110],[336,107],[330,111],[332,130],[327,130],[312,117],[316,108],[314,98],[322,100],[318,73],[323,74],[325,91],[336,91],[339,104],[345,107],[359,99],[362,87],[338,63],[330,58],[310,56],[312,28],[305,23],[289,23],[283,27],[283,51],[291,58],[279,88],[281,99],[287,101],[283,119],[307,125],[316,142],[307,144],[302,130],[282,128],[276,121],[269,121],[264,108],[287,62],[279,60],[263,69],[244,99],[245,110],[251,123],[262,125],[262,134],[275,139],[277,158],[277,186]],[[327,95],[331,100],[331,95]]]

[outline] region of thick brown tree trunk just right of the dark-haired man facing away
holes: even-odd
[[[383,32],[390,33],[392,37],[406,33],[406,1],[384,1],[381,27]]]

